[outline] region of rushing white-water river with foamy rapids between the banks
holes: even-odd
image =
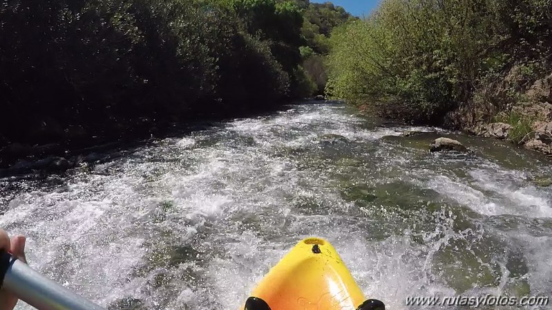
[[[441,135],[472,152],[430,154]],[[313,235],[366,295],[407,309],[409,296],[550,295],[552,188],[533,180],[551,174],[498,140],[289,105],[88,171],[0,179],[0,227],[28,236],[32,267],[112,310],[236,310]]]

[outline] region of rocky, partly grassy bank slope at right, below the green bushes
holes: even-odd
[[[513,66],[502,80],[477,91],[473,102],[450,113],[450,124],[475,136],[523,143],[526,149],[552,157],[552,73],[547,74],[527,84],[522,66]],[[513,97],[512,91],[519,96]],[[491,116],[507,120],[509,124],[489,124]],[[520,137],[526,131],[527,134]]]

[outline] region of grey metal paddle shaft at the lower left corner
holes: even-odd
[[[4,271],[2,288],[39,310],[105,310],[6,252],[0,253],[0,278]]]

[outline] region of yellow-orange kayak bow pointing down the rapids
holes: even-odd
[[[365,299],[330,242],[309,238],[269,271],[242,309],[385,310],[385,305]]]

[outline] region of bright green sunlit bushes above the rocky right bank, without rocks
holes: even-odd
[[[442,122],[516,64],[529,79],[545,71],[551,12],[549,0],[383,0],[334,29],[327,92],[381,116]]]

